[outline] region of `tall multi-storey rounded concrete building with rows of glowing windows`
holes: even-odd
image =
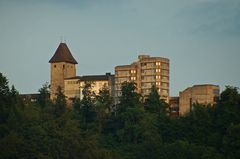
[[[169,59],[162,57],[138,56],[130,65],[115,67],[115,95],[121,96],[121,83],[136,83],[137,92],[147,97],[152,85],[156,85],[161,99],[169,101]]]

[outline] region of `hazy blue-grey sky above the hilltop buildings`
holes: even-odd
[[[170,95],[240,87],[240,0],[0,0],[0,72],[20,93],[50,81],[66,41],[77,75],[114,73],[140,54],[170,59]]]

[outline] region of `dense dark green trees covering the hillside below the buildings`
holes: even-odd
[[[135,89],[125,82],[114,105],[107,87],[95,95],[86,83],[83,99],[70,106],[60,88],[51,101],[45,84],[26,104],[0,73],[0,158],[240,158],[237,88],[182,117],[169,116],[155,86],[145,101]]]

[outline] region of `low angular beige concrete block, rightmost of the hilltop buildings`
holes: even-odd
[[[219,91],[219,86],[211,84],[194,85],[185,89],[179,93],[179,114],[184,115],[191,111],[194,103],[215,104]]]

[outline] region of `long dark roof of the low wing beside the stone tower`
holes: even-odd
[[[109,77],[114,77],[114,75],[87,75],[87,76],[75,76],[70,78],[65,78],[65,80],[79,79],[81,81],[108,81]]]

